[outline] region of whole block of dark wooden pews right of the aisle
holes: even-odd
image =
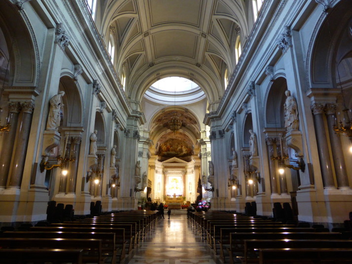
[[[352,264],[351,232],[318,232],[220,211],[190,212],[188,219],[223,262]]]

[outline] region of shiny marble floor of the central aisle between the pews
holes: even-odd
[[[158,222],[124,264],[221,264],[204,239],[188,223],[186,212],[173,212]],[[165,211],[166,213],[166,211]]]

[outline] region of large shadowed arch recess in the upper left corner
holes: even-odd
[[[39,56],[35,56],[38,51],[35,38],[28,30],[30,25],[26,24],[21,14],[11,1],[0,1],[0,43],[3,50],[7,49],[9,59],[6,85],[35,86],[39,78]]]

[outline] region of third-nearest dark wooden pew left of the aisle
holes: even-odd
[[[111,257],[111,264],[125,258],[125,249],[115,247],[115,233],[99,232],[49,232],[49,231],[5,231],[0,237],[8,238],[64,238],[64,239],[99,239],[102,240],[103,257]]]

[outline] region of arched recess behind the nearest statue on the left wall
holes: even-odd
[[[59,91],[64,91],[62,98],[63,107],[63,126],[79,127],[82,124],[82,103],[79,90],[73,79],[69,76],[60,78]]]

